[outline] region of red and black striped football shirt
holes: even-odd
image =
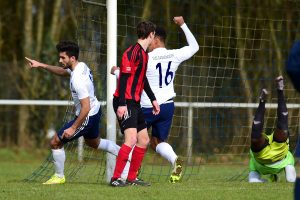
[[[147,63],[148,54],[139,43],[126,49],[122,56],[120,77],[117,89],[114,93],[115,97],[120,97],[121,99],[122,94],[120,93],[123,91],[122,89],[120,90],[120,80],[122,76],[128,76],[125,88],[125,99],[134,100],[136,102],[140,101],[146,79]]]

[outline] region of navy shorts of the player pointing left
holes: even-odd
[[[72,140],[75,140],[79,138],[80,136],[83,136],[85,139],[95,139],[99,136],[99,124],[100,124],[100,118],[101,118],[101,108],[99,109],[98,113],[93,116],[87,116],[84,120],[84,122],[77,128],[75,131],[75,134],[71,138],[61,138],[64,130],[71,127],[75,120],[77,119],[77,116],[66,123],[57,133],[58,138],[62,143],[67,143]]]

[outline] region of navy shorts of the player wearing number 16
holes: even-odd
[[[168,139],[174,115],[174,102],[160,105],[160,113],[154,115],[152,108],[142,108],[147,128],[152,127],[152,136],[157,137],[160,141]]]

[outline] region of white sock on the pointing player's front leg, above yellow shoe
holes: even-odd
[[[54,160],[55,174],[58,177],[62,178],[64,176],[64,167],[65,167],[65,160],[66,160],[66,154],[64,148],[52,149],[52,157]]]

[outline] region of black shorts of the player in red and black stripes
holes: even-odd
[[[126,100],[127,115],[121,120],[118,119],[122,134],[128,128],[136,128],[137,132],[147,128],[141,104],[133,100]],[[113,107],[115,113],[117,113],[119,107],[119,98],[114,97]]]

